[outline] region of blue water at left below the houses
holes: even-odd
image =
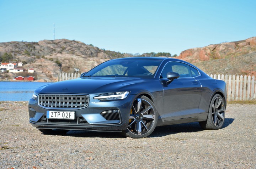
[[[46,82],[0,81],[0,101],[28,101],[35,89]]]

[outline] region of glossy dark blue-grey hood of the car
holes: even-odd
[[[143,78],[78,78],[60,81],[42,86],[35,90],[42,93],[102,94],[126,90],[126,86],[134,83],[145,83],[150,79]]]

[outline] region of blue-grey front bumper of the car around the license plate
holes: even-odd
[[[89,106],[81,109],[43,108],[37,100],[30,99],[28,111],[30,123],[38,129],[94,130],[94,131],[123,131],[129,123],[130,109],[137,95],[129,95],[124,100],[99,101],[90,98]],[[119,110],[119,120],[106,120],[101,112]],[[47,119],[47,111],[75,111],[75,120]]]

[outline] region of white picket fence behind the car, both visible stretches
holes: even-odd
[[[58,81],[76,79],[80,73],[60,73]],[[224,80],[227,88],[228,101],[242,101],[256,99],[256,80],[254,76],[239,75],[210,75],[214,79]]]

